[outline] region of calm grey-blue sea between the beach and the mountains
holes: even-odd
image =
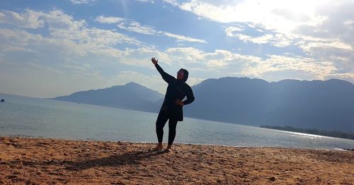
[[[0,93],[0,136],[156,142],[157,114]],[[168,124],[164,142],[167,141]],[[354,148],[354,141],[185,118],[175,143],[239,147]]]

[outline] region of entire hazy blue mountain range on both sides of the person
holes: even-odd
[[[192,87],[186,117],[251,126],[354,131],[354,85],[345,80],[280,80],[226,77]],[[137,83],[87,90],[54,100],[158,112],[161,93]]]

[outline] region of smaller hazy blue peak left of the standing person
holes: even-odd
[[[135,109],[147,112],[157,112],[159,105],[156,101],[161,100],[161,93],[150,90],[137,83],[116,85],[111,88],[86,90],[72,95],[52,98],[65,102],[80,102],[91,105],[117,107],[123,109]]]

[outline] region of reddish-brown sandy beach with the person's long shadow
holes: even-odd
[[[0,138],[0,184],[353,184],[354,152]]]

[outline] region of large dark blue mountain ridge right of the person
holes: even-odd
[[[344,80],[208,79],[193,86],[188,117],[253,126],[354,131],[354,85]]]

